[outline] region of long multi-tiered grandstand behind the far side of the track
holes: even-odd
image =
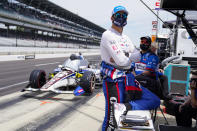
[[[48,0],[0,0],[0,46],[98,48],[104,31]]]

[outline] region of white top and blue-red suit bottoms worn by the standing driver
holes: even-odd
[[[102,59],[101,74],[104,76],[103,92],[105,96],[105,118],[102,131],[106,131],[108,127],[111,129],[116,127],[113,120],[111,120],[112,103],[125,103],[125,93],[127,91],[140,91],[142,89],[142,98],[137,98],[138,100],[133,99],[129,102],[132,110],[155,109],[160,105],[160,100],[149,90],[143,87],[139,88],[131,73],[126,77],[125,70],[130,69],[131,62],[138,62],[141,59],[140,52],[135,49],[131,40],[126,35],[120,34],[111,28],[103,33],[100,46]],[[129,80],[126,81],[127,78]],[[126,84],[127,82],[129,84]]]

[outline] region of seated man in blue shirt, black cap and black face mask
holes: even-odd
[[[159,57],[151,51],[152,40],[149,36],[140,38],[141,60],[132,62],[135,78],[159,98],[163,97],[162,87],[158,79]]]

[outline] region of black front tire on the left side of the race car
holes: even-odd
[[[46,83],[46,73],[44,70],[33,70],[29,77],[31,88],[39,89]]]

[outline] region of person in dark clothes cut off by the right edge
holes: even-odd
[[[191,95],[175,109],[177,126],[192,127],[192,118],[197,119],[197,71],[190,79]]]

